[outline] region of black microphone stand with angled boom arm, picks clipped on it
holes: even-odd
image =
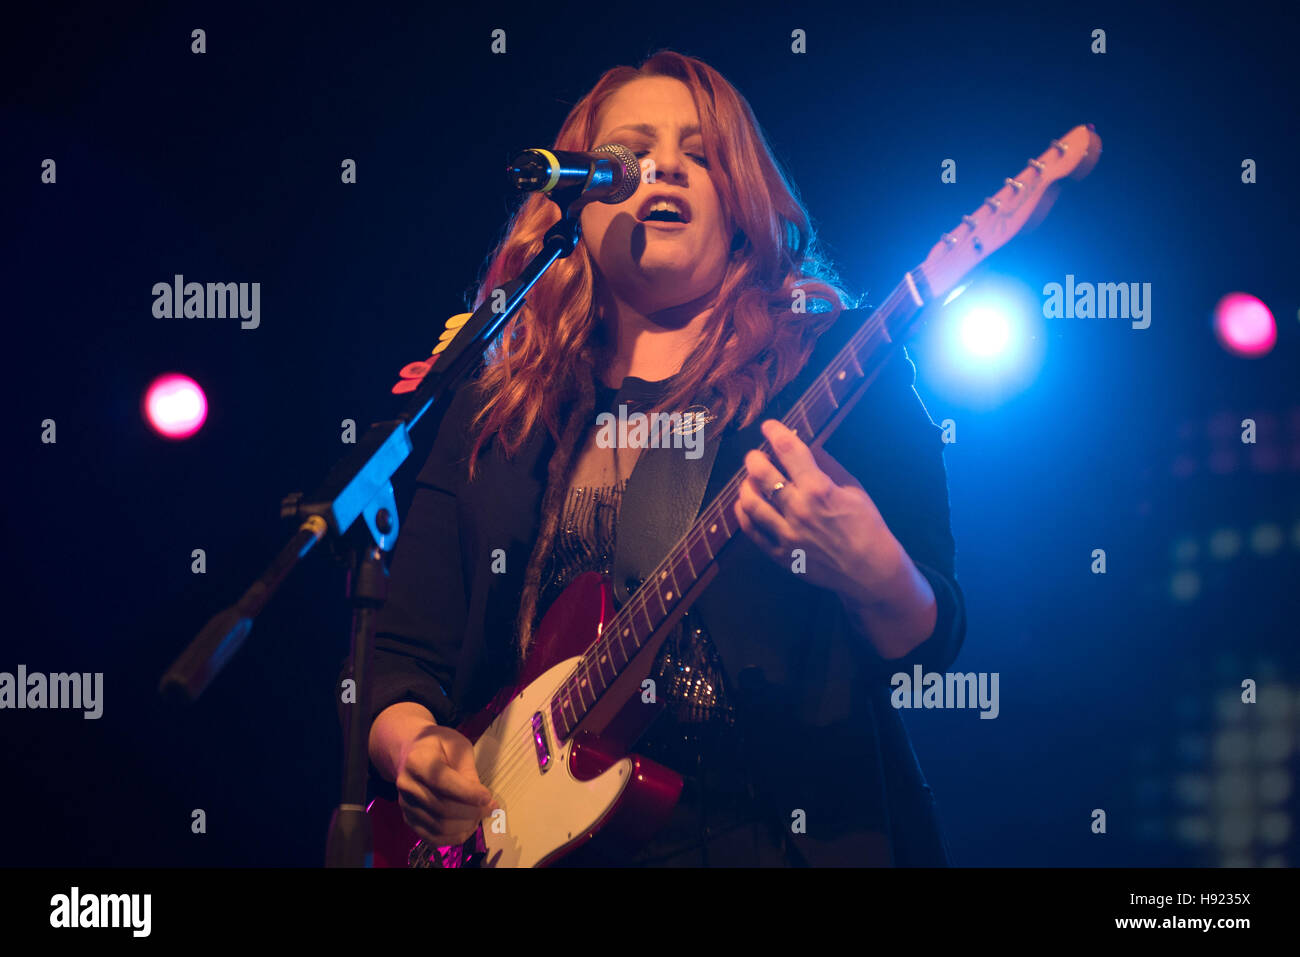
[[[243,645],[254,619],[272,599],[298,563],[321,538],[348,557],[347,597],[352,606],[352,679],[356,696],[350,706],[343,746],[343,794],[330,820],[325,849],[328,867],[360,867],[372,863],[370,819],[365,814],[369,779],[369,659],[374,622],[387,597],[384,555],[398,538],[393,475],[411,454],[411,430],[436,402],[454,389],[484,356],[500,328],[524,304],[529,290],[558,259],[567,257],[581,237],[578,213],[598,196],[584,195],[588,185],[573,185],[549,194],[560,208],[559,221],[542,241],[541,251],[502,291],[504,304],[494,308],[489,296],[460,328],[446,350],[411,395],[396,419],[374,423],[325,476],[309,497],[287,495],[281,518],[300,521],[266,571],[238,602],[214,615],[188,648],[172,663],[159,684],[159,693],[192,702],[203,694],[217,672]],[[360,519],[360,521],[358,521]]]

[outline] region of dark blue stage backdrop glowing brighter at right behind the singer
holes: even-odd
[[[396,371],[463,311],[511,209],[503,163],[550,144],[604,69],[670,47],[749,99],[874,303],[1027,156],[1096,125],[1092,176],[989,265],[1035,294],[1066,273],[1150,282],[1152,324],[1046,320],[1035,381],[992,407],[935,373],[933,326],[913,346],[932,417],[958,424],[970,632],[954,668],[998,672],[1001,714],[905,719],[959,865],[1294,866],[1295,21],[1227,4],[902,7],[493,4],[452,20],[87,4],[9,20],[0,671],[103,671],[105,688],[96,722],[0,713],[0,863],[322,859],[348,625],[324,550],[191,713],[161,707],[159,677],[282,544],[280,499],[346,451],[341,420],[390,415]],[[46,157],[57,185],[40,182]],[[174,273],[260,282],[261,326],[155,319],[151,289]],[[1277,316],[1262,359],[1214,341],[1210,309],[1234,290]],[[166,371],[208,393],[187,442],[139,415]],[[56,445],[39,441],[47,417]],[[1244,417],[1257,446],[1239,441]],[[1279,549],[1252,547],[1261,524]],[[1106,575],[1089,571],[1096,547]],[[1170,590],[1179,570],[1191,599]]]

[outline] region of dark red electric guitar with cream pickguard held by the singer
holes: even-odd
[[[1100,156],[1091,125],[1052,140],[904,276],[781,421],[820,447],[918,313],[1039,221],[1060,181],[1082,179]],[[759,447],[771,451],[766,442]],[[572,856],[599,861],[649,840],[672,811],[682,780],[630,753],[656,715],[641,701],[641,681],[672,627],[718,573],[738,531],[733,508],[744,478],[744,471],[734,475],[705,506],[621,609],[601,575],[569,584],[542,618],[517,684],[458,728],[473,741],[478,779],[500,810],[465,844],[433,848],[407,827],[396,804],[374,800],[376,866],[534,867]]]

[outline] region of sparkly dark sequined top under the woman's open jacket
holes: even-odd
[[[627,480],[619,485],[569,489],[542,576],[545,584],[538,597],[542,612],[578,575],[610,573],[625,488]],[[734,709],[727,700],[718,653],[707,633],[689,619],[689,615],[682,619],[659,649],[650,672],[656,693],[680,724],[732,726]]]

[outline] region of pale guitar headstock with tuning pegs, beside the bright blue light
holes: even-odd
[[[1011,237],[1041,220],[1052,207],[1060,181],[1083,179],[1098,159],[1101,137],[1091,124],[1053,139],[1043,155],[1030,160],[1014,178],[1009,177],[1002,189],[935,243],[920,265],[931,298],[946,294]]]

